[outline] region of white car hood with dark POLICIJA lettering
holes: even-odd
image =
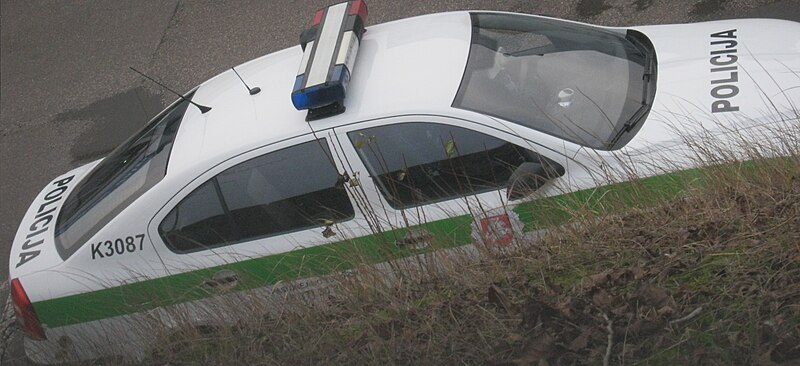
[[[658,66],[650,115],[629,152],[692,136],[796,126],[800,23],[738,19],[634,29],[653,43]]]

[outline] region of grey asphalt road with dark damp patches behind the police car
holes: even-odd
[[[17,226],[40,189],[54,176],[111,150],[174,99],[129,66],[186,91],[231,66],[297,44],[314,11],[333,2],[2,1],[0,280],[8,277]],[[739,17],[800,21],[800,0],[368,3],[368,24],[463,9],[539,13],[604,25]],[[5,296],[0,289],[0,299]],[[0,363],[21,362],[18,343],[10,351],[13,356]]]

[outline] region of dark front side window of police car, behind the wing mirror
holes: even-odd
[[[402,123],[348,133],[375,184],[394,208],[413,207],[506,186],[539,155],[465,128]]]

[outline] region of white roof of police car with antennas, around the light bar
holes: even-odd
[[[300,28],[305,25],[298,25]],[[425,15],[368,26],[352,73],[346,111],[310,123],[290,94],[300,66],[300,46],[236,67],[261,92],[251,96],[228,70],[201,84],[181,122],[169,171],[205,171],[245,151],[314,130],[386,116],[452,109],[469,53],[468,12]]]

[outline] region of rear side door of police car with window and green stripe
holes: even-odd
[[[352,266],[348,239],[368,229],[331,138],[317,135],[234,157],[156,214],[148,231],[170,273],[164,284],[175,289],[175,303],[264,287],[272,293],[272,285]]]

